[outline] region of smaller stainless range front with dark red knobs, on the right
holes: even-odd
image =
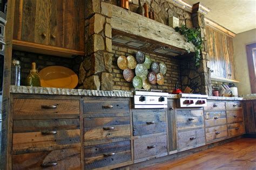
[[[199,108],[207,106],[207,95],[199,94],[179,94],[178,107],[179,108]]]

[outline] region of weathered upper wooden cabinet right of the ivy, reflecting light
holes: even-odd
[[[210,56],[211,77],[236,82],[233,38],[206,26],[207,52]]]

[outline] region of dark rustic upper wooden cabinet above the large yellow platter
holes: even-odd
[[[47,45],[84,51],[84,0],[16,0],[15,8],[14,48]]]

